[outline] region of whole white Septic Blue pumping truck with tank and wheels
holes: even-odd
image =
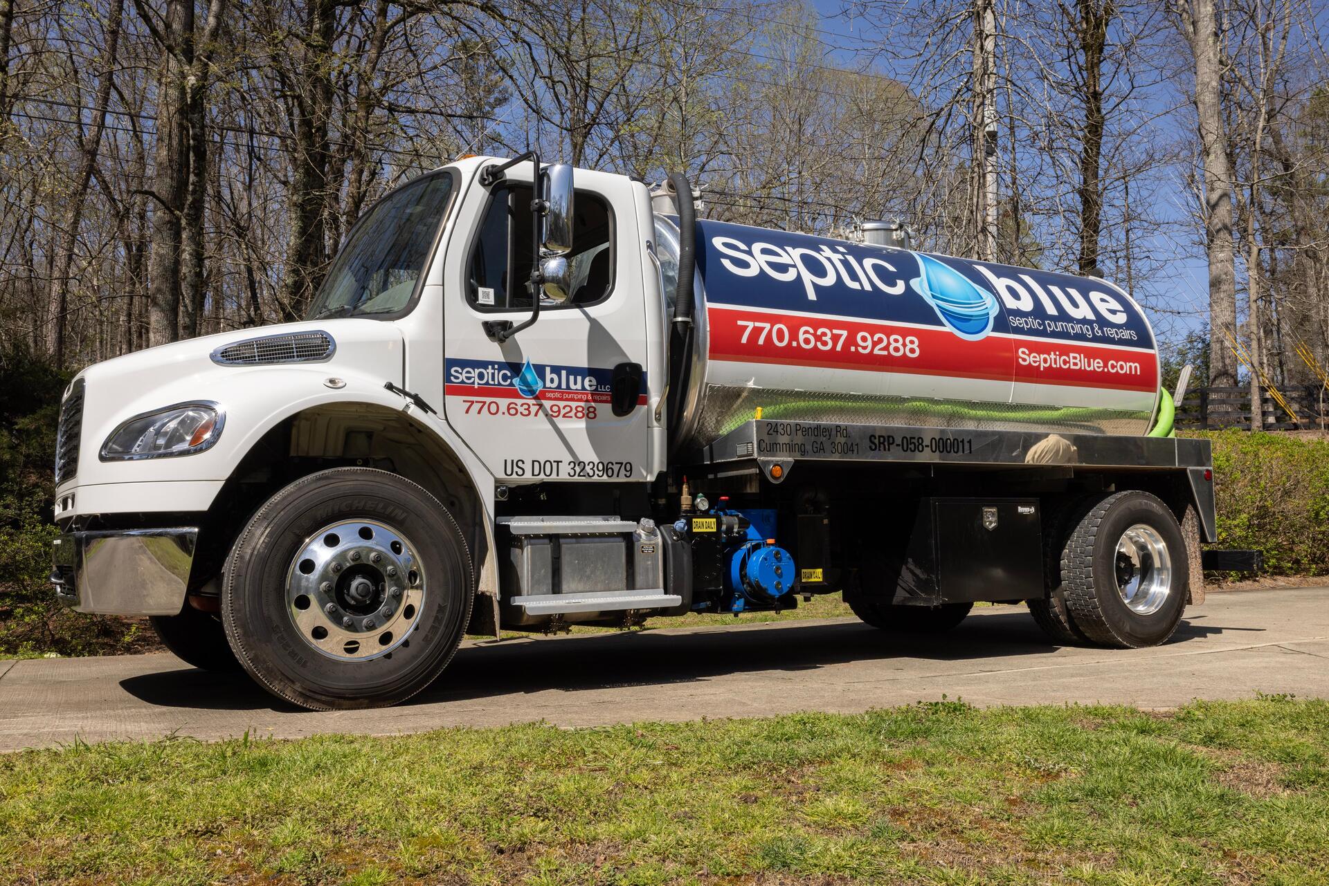
[[[303,321],[89,367],[60,600],[326,709],[412,696],[465,632],[843,592],[894,635],[1022,603],[1143,647],[1204,599],[1209,444],[1127,292],[692,201],[460,159],[356,223]]]

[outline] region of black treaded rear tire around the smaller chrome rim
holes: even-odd
[[[1118,543],[1136,526],[1150,530],[1162,546],[1160,555],[1167,558],[1166,580],[1159,569],[1162,559],[1151,557],[1150,565],[1138,570],[1142,576],[1159,576],[1162,598],[1152,611],[1136,611],[1118,590],[1119,570],[1136,574],[1118,554]],[[1095,643],[1118,648],[1158,646],[1181,622],[1189,587],[1185,541],[1176,515],[1148,493],[1112,493],[1084,509],[1062,547],[1061,571],[1070,618]]]

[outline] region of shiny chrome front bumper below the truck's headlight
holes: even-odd
[[[80,612],[175,615],[197,543],[197,526],[66,533],[53,542],[51,582]]]

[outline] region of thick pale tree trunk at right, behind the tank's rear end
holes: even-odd
[[[1232,243],[1232,165],[1223,124],[1223,62],[1213,0],[1181,0],[1184,29],[1195,56],[1195,110],[1204,161],[1204,226],[1209,254],[1209,385],[1233,388],[1237,360],[1236,255]]]

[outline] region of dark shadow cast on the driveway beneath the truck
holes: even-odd
[[[1249,630],[1199,624],[1199,620],[1203,616],[1183,620],[1168,646],[1224,631]],[[873,659],[965,662],[1046,655],[1054,648],[1023,607],[974,616],[949,634],[926,636],[901,636],[859,622],[844,622],[781,624],[775,630],[722,628],[683,635],[631,631],[565,636],[557,642],[517,639],[462,648],[444,676],[407,704],[549,689],[578,692],[663,685],[744,671],[813,671]],[[162,707],[299,711],[276,701],[243,673],[221,675],[182,668],[128,677],[120,685],[134,697]]]

